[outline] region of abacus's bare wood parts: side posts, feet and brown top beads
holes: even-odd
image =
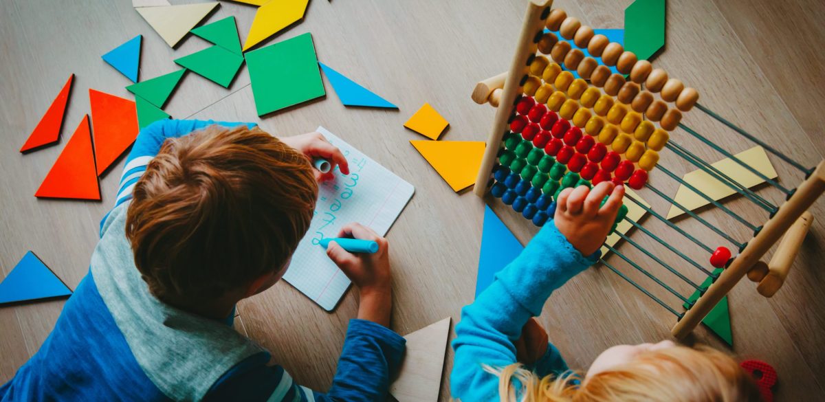
[[[807,233],[808,226],[813,219],[807,209],[825,192],[825,161],[820,161],[818,166],[813,169],[804,168],[790,157],[775,151],[757,138],[730,124],[727,120],[696,104],[699,98],[697,91],[692,88],[685,88],[678,80],[668,79],[667,72],[661,69],[651,70],[650,63],[637,61],[635,55],[623,51],[624,49],[620,44],[618,46],[608,44],[603,37],[599,39],[599,43],[592,44],[591,40],[594,37],[592,28],[582,26],[578,20],[567,17],[566,13],[563,12],[551,16],[551,5],[552,0],[530,0],[510,69],[479,82],[473,91],[472,99],[474,101],[479,104],[489,102],[497,107],[493,129],[488,136],[487,148],[475,182],[474,193],[479,197],[483,197],[493,185],[493,167],[497,165],[497,154],[502,139],[507,133],[507,124],[515,114],[516,101],[527,81],[527,77],[529,77],[528,70],[535,59],[535,53],[540,47],[543,47],[542,53],[550,54],[559,63],[563,62],[571,68],[577,68],[577,72],[582,78],[591,79],[593,85],[605,86],[608,95],[616,96],[620,94],[619,96],[625,99],[623,103],[626,104],[631,103],[631,100],[633,100],[634,110],[639,113],[646,112],[648,119],[653,121],[662,120],[662,128],[667,129],[667,131],[678,126],[693,135],[698,135],[680,124],[680,110],[688,111],[694,105],[697,105],[700,110],[711,115],[714,119],[724,122],[742,136],[765,147],[800,171],[804,171],[805,180],[796,189],[786,191],[785,203],[772,211],[769,220],[756,229],[752,240],[744,243],[739,250],[739,254],[728,260],[727,268],[715,278],[714,283],[707,288],[693,306],[679,316],[679,320],[672,328],[672,334],[677,339],[682,339],[690,334],[696,325],[699,325],[700,321],[708,315],[709,311],[746,274],[755,282],[760,282],[758,290],[763,296],[771,297],[784,282],[788,269],[790,269],[790,265],[799,250],[801,240]],[[570,51],[570,45],[566,42],[559,40],[552,44],[543,43],[542,41],[547,37],[544,35],[544,25],[548,17],[551,21],[547,21],[547,26],[551,31],[559,30],[559,33],[565,39],[574,40],[578,47],[587,47],[590,53],[596,57],[601,55],[602,61],[607,65],[617,65],[619,72],[629,73],[631,82],[625,82],[624,76],[620,74],[610,75],[607,68],[596,66],[593,58],[582,58],[580,50]],[[590,48],[591,45],[595,49]],[[550,46],[552,48],[548,49]],[[642,83],[646,85],[645,91],[639,90],[639,84]],[[662,91],[662,100],[675,101],[676,108],[668,109],[665,102],[653,101],[653,96],[649,95],[648,90],[653,92]],[[644,93],[648,95],[639,96],[639,94]],[[635,101],[637,98],[639,98],[639,105]],[[680,156],[684,157],[681,153]],[[784,189],[780,186],[779,188]],[[786,232],[787,235],[780,243],[774,258],[771,259],[771,263],[761,263],[760,259]],[[639,287],[639,289],[642,288]]]

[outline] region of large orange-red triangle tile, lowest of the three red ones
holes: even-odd
[[[101,199],[95,156],[92,152],[89,115],[83,116],[78,129],[74,130],[72,138],[68,139],[63,152],[60,152],[57,161],[54,161],[40,189],[37,189],[35,197]]]

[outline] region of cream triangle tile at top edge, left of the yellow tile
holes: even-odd
[[[166,43],[175,45],[194,28],[200,20],[218,7],[218,2],[199,2],[196,4],[181,4],[179,6],[158,6],[135,8],[144,17],[144,20],[158,32]]]

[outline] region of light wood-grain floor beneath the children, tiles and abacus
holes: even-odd
[[[185,2],[173,1],[174,3]],[[622,10],[631,0],[559,0],[562,7],[595,27],[620,28]],[[504,71],[521,27],[525,1],[495,0],[414,2],[315,0],[303,22],[267,43],[312,32],[318,58],[374,89],[394,102],[396,110],[346,109],[332,87],[328,96],[293,110],[258,119],[249,77],[244,68],[229,90],[189,73],[167,105],[175,118],[257,121],[278,136],[304,133],[319,124],[389,167],[416,186],[411,203],[389,231],[394,269],[393,330],[407,334],[446,316],[454,323],[460,308],[473,300],[484,203],[469,192],[455,194],[408,144],[420,139],[403,129],[403,122],[424,102],[450,121],[443,140],[484,140],[493,109],[469,99],[474,83]],[[241,36],[252,23],[254,7],[221,2],[210,21],[233,15]],[[718,111],[745,129],[800,161],[813,165],[825,154],[822,110],[825,95],[825,2],[817,0],[695,0],[671,1],[667,7],[667,47],[654,61],[672,77],[679,77],[701,94],[700,103]],[[5,275],[33,250],[70,287],[87,273],[89,256],[97,241],[98,223],[114,201],[122,161],[101,181],[103,202],[35,199],[33,194],[54,158],[82,118],[88,113],[88,88],[131,98],[129,84],[101,61],[101,54],[143,34],[140,77],[156,77],[177,67],[173,58],[204,49],[199,38],[186,39],[169,49],[125,0],[111,2],[53,2],[6,0],[0,2],[0,275]],[[43,111],[50,105],[69,73],[77,74],[63,139],[58,146],[21,155],[25,141]],[[733,133],[712,123],[700,112],[686,115],[686,124],[705,133],[729,150],[748,147]],[[703,157],[719,159],[685,133],[673,138]],[[794,186],[800,175],[771,157],[781,183]],[[663,152],[662,165],[676,173],[690,166]],[[676,190],[672,180],[653,174],[653,184],[667,193]],[[760,194],[780,202],[780,194],[762,188]],[[667,203],[649,191],[641,195],[663,212]],[[497,200],[488,200],[521,241],[535,228]],[[742,199],[726,205],[762,222],[765,213]],[[733,353],[771,363],[780,376],[778,400],[825,398],[825,203],[813,208],[818,217],[804,242],[785,287],[771,299],[758,296],[752,283],[740,283],[730,294]],[[750,233],[719,210],[701,212],[709,222],[746,241]],[[644,222],[651,231],[667,234],[660,222]],[[691,219],[680,227],[703,241],[723,245],[718,236]],[[677,259],[641,232],[633,238],[642,245]],[[707,256],[670,236],[697,259]],[[659,272],[628,244],[620,250],[645,267]],[[623,272],[643,279],[617,256]],[[680,269],[699,279],[689,266]],[[676,278],[662,278],[679,292]],[[672,306],[655,284],[642,280]],[[14,375],[43,343],[57,320],[64,301],[46,301],[0,308],[0,382]],[[286,283],[279,283],[238,306],[238,330],[269,348],[300,383],[326,390],[341,351],[347,320],[356,315],[356,292],[330,313]],[[551,341],[572,367],[587,367],[604,348],[614,344],[655,342],[669,337],[674,316],[601,267],[574,278],[550,298],[542,322]],[[724,348],[704,328],[695,340]],[[445,373],[452,368],[448,351]],[[449,400],[445,375],[441,400]]]

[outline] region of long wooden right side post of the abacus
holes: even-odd
[[[742,253],[719,274],[716,282],[712,283],[707,292],[696,301],[696,304],[685,312],[681,320],[676,322],[671,330],[673,336],[682,339],[690,334],[716,306],[716,303],[719,303],[722,297],[730,292],[753,264],[756,264],[776,241],[779,241],[785,231],[788,231],[823,192],[825,192],[825,161],[820,161],[816,170],[799,185],[794,195],[782,204],[774,217],[766,222],[762,230],[757,233],[757,236],[747,243]]]

